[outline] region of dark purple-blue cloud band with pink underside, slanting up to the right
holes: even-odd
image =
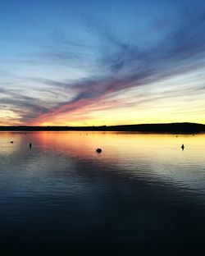
[[[73,84],[68,83],[65,86],[76,92],[75,98],[54,107],[43,115],[43,118],[62,112],[72,112],[91,103],[98,105],[101,99],[123,89],[148,85],[197,69],[200,66],[198,60],[204,57],[205,51],[203,12],[197,15],[190,12],[181,19],[178,27],[166,34],[161,42],[142,51],[134,42],[124,43],[116,39],[111,30],[97,28],[98,33],[102,32],[104,40],[116,46],[116,50],[109,54],[103,49],[99,66],[103,66],[103,70],[108,70],[107,76],[96,75]]]

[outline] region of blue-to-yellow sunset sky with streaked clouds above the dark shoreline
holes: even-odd
[[[205,124],[202,0],[1,0],[0,126]]]

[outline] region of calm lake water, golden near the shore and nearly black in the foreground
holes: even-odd
[[[0,255],[201,255],[204,243],[205,135],[0,133]]]

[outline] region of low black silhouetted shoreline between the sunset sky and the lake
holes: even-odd
[[[0,131],[139,131],[157,133],[200,133],[205,125],[183,122],[121,126],[0,126]]]

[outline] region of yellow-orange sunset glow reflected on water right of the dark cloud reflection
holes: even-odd
[[[187,189],[205,188],[205,135],[150,135],[134,133],[65,132],[34,135],[37,148],[55,151],[77,161],[93,162],[112,171]],[[180,145],[186,145],[181,152]],[[98,155],[95,149],[103,149]],[[104,170],[106,171],[106,170]]]

